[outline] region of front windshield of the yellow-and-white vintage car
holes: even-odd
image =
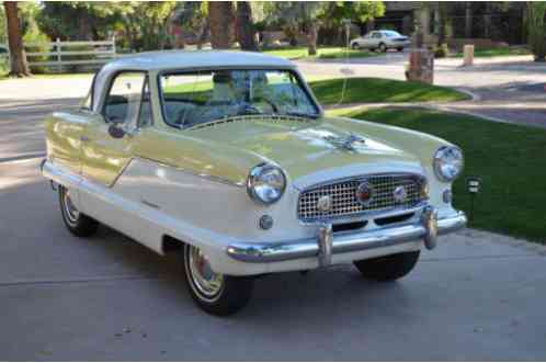
[[[194,125],[240,115],[317,117],[318,106],[292,70],[223,69],[160,76],[163,117]]]

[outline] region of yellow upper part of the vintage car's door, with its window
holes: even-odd
[[[81,156],[86,179],[112,186],[128,165],[147,90],[145,72],[122,71],[113,78],[101,112],[90,120],[83,135]],[[113,124],[123,131],[122,137],[111,135],[109,128]]]

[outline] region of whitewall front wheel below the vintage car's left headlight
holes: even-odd
[[[252,295],[253,279],[228,276],[212,270],[198,248],[184,245],[184,275],[187,290],[197,305],[208,314],[227,316],[242,309]]]

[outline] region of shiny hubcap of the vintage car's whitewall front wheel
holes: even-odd
[[[198,248],[190,247],[187,263],[191,279],[201,294],[214,297],[221,291],[224,276],[211,269],[208,259]]]

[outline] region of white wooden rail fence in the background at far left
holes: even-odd
[[[61,70],[65,66],[98,66],[116,58],[115,38],[100,42],[27,43],[24,45],[29,66]],[[8,46],[0,44],[0,48]],[[8,50],[9,52],[9,50]],[[2,57],[2,53],[0,53]],[[4,58],[9,58],[5,53]]]

